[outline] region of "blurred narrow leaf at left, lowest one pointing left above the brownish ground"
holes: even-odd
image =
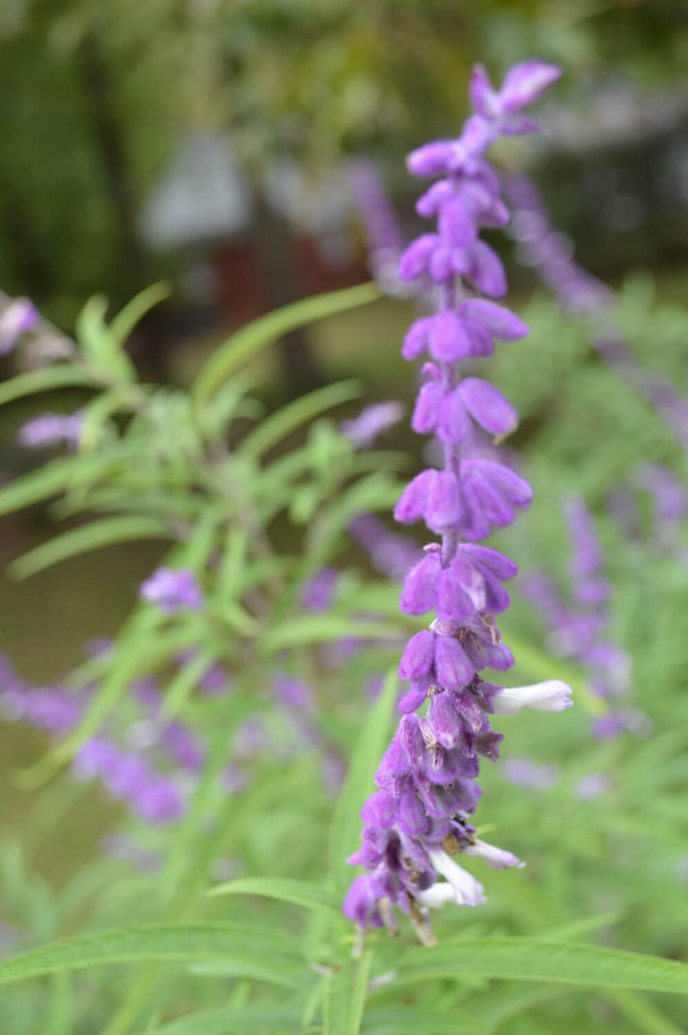
[[[131,539],[166,537],[169,537],[167,525],[157,518],[103,518],[83,528],[70,529],[69,532],[35,546],[12,561],[7,571],[12,579],[28,579],[29,575],[42,571],[58,561],[65,561],[89,550],[98,550],[100,546],[110,546],[115,542],[127,542]]]

